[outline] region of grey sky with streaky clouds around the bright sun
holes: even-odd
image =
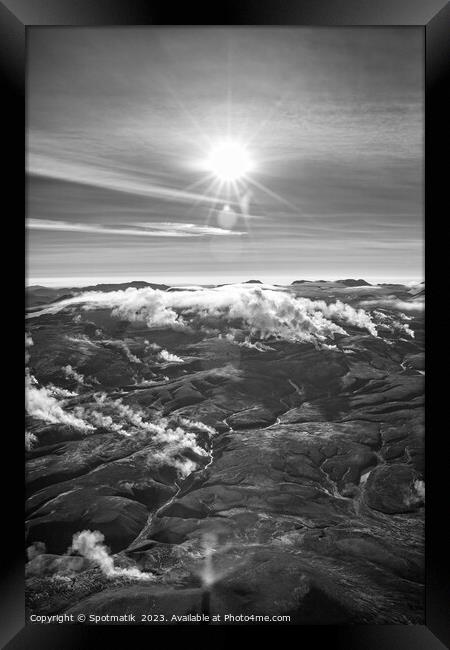
[[[27,283],[422,280],[423,46],[405,27],[30,28]],[[224,142],[251,163],[234,182],[211,167]]]

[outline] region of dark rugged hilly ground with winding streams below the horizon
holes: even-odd
[[[360,282],[28,290],[29,612],[423,623],[424,289]]]

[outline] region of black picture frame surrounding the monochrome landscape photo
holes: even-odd
[[[283,642],[283,634],[295,638],[299,646],[332,645],[354,648],[405,648],[408,650],[438,650],[450,647],[449,553],[446,510],[448,500],[448,456],[443,452],[445,422],[445,381],[433,379],[433,368],[445,362],[438,349],[439,323],[433,322],[433,300],[437,303],[437,285],[444,283],[446,274],[439,268],[445,256],[433,254],[430,259],[431,238],[439,239],[445,218],[448,165],[448,62],[450,61],[450,5],[443,0],[223,0],[221,3],[184,3],[173,7],[160,0],[7,0],[0,2],[0,83],[3,89],[4,134],[10,136],[4,151],[7,178],[3,189],[4,204],[10,207],[8,221],[14,222],[16,243],[23,245],[24,229],[24,151],[25,151],[25,79],[26,32],[31,26],[102,26],[102,25],[308,25],[308,26],[421,26],[425,32],[425,215],[426,215],[426,282],[427,287],[427,380],[426,380],[426,624],[425,625],[366,625],[366,626],[291,626],[275,628],[253,626],[252,636],[262,633],[268,639]],[[441,160],[444,164],[441,164]],[[6,196],[5,196],[6,195]],[[9,199],[9,200],[8,200]],[[433,236],[433,229],[435,233]],[[9,241],[9,240],[8,240]],[[434,245],[434,244],[433,244]],[[6,247],[5,247],[6,248]],[[21,281],[21,260],[17,251],[16,268],[8,264],[5,282],[14,273]],[[431,268],[432,267],[432,268]],[[442,264],[443,267],[443,264]],[[442,271],[442,273],[441,273]],[[444,279],[443,279],[444,278]],[[22,285],[23,286],[23,285]],[[9,288],[11,291],[11,289]],[[21,287],[15,291],[21,295]],[[445,292],[445,289],[444,289]],[[437,297],[437,298],[436,298]],[[442,297],[442,294],[441,294]],[[444,296],[446,301],[446,296]],[[20,313],[20,308],[18,309]],[[439,327],[439,330],[437,329]],[[433,328],[436,336],[433,336]],[[13,328],[14,329],[14,328]],[[17,326],[17,347],[19,335]],[[433,344],[435,343],[435,345]],[[21,368],[17,365],[20,394]],[[448,364],[447,364],[448,365]],[[19,378],[20,375],[20,378]],[[431,380],[430,380],[431,375]],[[15,378],[15,377],[14,377]],[[431,387],[430,381],[434,385]],[[439,385],[438,385],[439,384]],[[11,391],[11,386],[9,388]],[[19,407],[21,405],[19,404]],[[19,411],[17,411],[19,412]],[[183,643],[225,645],[230,638],[241,637],[238,626],[201,628],[196,625],[177,627],[150,626],[83,626],[83,625],[25,625],[24,557],[23,557],[23,443],[17,430],[4,430],[6,452],[3,462],[12,469],[4,486],[3,505],[10,513],[4,519],[0,592],[0,642],[8,650],[22,648],[94,648],[106,643],[112,633],[117,642],[130,642],[130,636],[143,634],[147,643],[172,643],[182,632]],[[431,432],[433,432],[431,434]],[[13,435],[14,434],[14,435]],[[5,440],[5,438],[7,439]],[[4,468],[3,468],[4,469]],[[4,474],[4,472],[2,472]],[[3,477],[2,477],[3,478]],[[441,495],[444,495],[441,505]],[[20,505],[19,505],[20,504]],[[5,534],[5,531],[7,534]],[[182,629],[180,629],[182,627]],[[258,628],[258,629],[257,629]],[[247,628],[248,629],[248,628]],[[254,640],[253,640],[254,641]],[[444,645],[445,644],[445,645]]]

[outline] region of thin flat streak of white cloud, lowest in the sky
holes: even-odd
[[[126,235],[132,237],[204,237],[223,235],[245,235],[239,230],[227,230],[216,226],[202,226],[194,223],[155,222],[132,224],[132,227],[102,226],[95,223],[77,223],[53,219],[27,220],[30,230],[53,230],[61,232],[85,232],[99,235]]]

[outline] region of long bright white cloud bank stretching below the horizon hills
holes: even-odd
[[[364,309],[337,300],[297,298],[285,291],[228,285],[196,291],[161,291],[146,287],[102,293],[88,291],[62,300],[41,312],[56,313],[66,307],[109,308],[112,315],[142,321],[149,328],[221,332],[245,328],[261,340],[269,337],[293,342],[320,342],[346,334],[345,326],[366,329],[377,336],[376,326]]]

